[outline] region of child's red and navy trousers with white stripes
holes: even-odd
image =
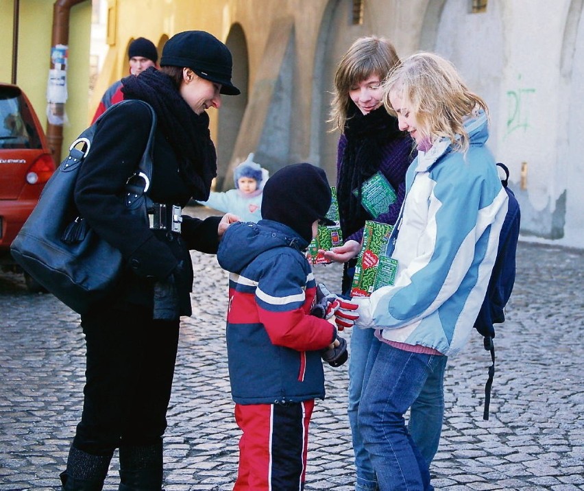
[[[300,491],[306,478],[308,424],[314,400],[235,405],[239,471],[234,491]]]

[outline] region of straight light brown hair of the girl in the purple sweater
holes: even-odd
[[[387,73],[399,62],[396,48],[386,38],[365,36],[354,41],[337,65],[334,75],[334,97],[330,104],[331,132],[343,132],[352,101],[350,88],[372,75],[385,80]]]

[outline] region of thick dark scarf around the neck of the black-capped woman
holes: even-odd
[[[122,80],[125,99],[141,99],[156,112],[158,128],[178,156],[180,173],[196,200],[208,200],[217,176],[217,153],[206,112],[197,115],[186,104],[171,78],[151,67],[138,77]]]

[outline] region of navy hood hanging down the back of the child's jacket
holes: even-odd
[[[223,234],[217,251],[219,265],[231,273],[239,274],[257,256],[280,247],[291,247],[302,254],[308,243],[289,226],[273,220],[238,221]]]

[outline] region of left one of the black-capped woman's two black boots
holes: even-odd
[[[111,455],[91,455],[71,446],[67,468],[59,475],[63,491],[101,491],[111,459]]]

